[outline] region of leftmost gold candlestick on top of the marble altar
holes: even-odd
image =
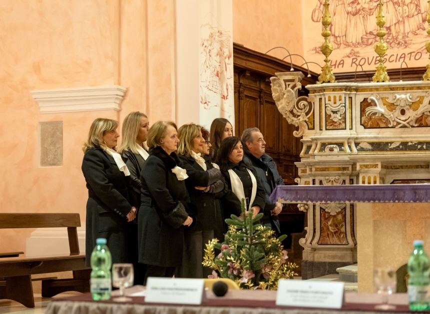
[[[331,61],[328,58],[333,51],[333,45],[329,41],[331,32],[328,30],[328,27],[331,24],[331,17],[328,12],[328,6],[328,0],[325,0],[322,9],[322,26],[324,30],[321,33],[321,36],[324,38],[324,43],[321,45],[321,52],[325,56],[325,65],[321,68],[321,74],[318,76],[317,83],[334,83],[336,79],[333,74],[333,69],[331,68]]]

